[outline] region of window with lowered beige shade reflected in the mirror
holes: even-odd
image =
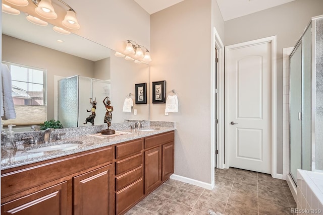
[[[8,65],[12,79],[12,97],[16,119],[3,120],[5,125],[32,125],[46,120],[46,70],[16,63]],[[33,114],[28,114],[32,111]]]

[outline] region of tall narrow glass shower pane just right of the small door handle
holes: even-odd
[[[312,34],[311,25],[302,37],[302,169],[311,171],[312,166]]]

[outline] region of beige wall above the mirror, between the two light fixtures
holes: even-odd
[[[150,16],[133,0],[96,0],[81,4],[66,0],[76,12],[81,28],[74,33],[123,51],[126,40],[150,47]]]

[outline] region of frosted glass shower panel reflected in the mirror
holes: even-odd
[[[77,77],[59,81],[58,120],[63,127],[77,127],[78,118],[78,82]]]

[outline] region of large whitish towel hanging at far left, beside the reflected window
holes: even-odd
[[[11,88],[11,74],[8,66],[2,63],[1,66],[1,78],[2,78],[2,108],[1,116],[3,120],[15,119],[16,111],[14,101],[12,99]]]

